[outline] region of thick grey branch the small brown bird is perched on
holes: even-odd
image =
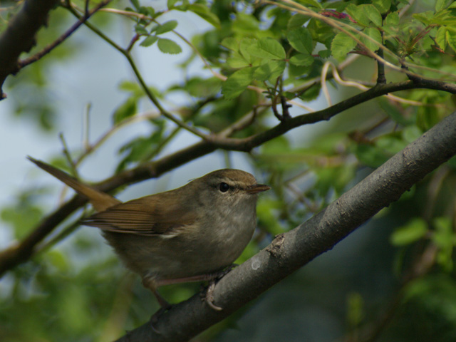
[[[333,248],[455,154],[453,113],[326,209],[290,232],[280,234],[269,247],[224,276],[214,290],[214,303],[222,311],[210,309],[197,294],[163,314],[154,328],[150,322],[145,323],[118,341],[188,341]]]

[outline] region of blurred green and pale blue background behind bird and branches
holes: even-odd
[[[182,1],[152,0],[141,5],[163,13],[157,17],[160,23],[177,21],[176,31],[199,48],[212,68],[229,69],[222,53],[211,50],[219,48],[220,32],[227,30],[227,24],[222,21],[221,28],[214,27],[211,20],[194,11],[167,11],[176,2]],[[291,17],[278,9],[266,11],[242,1],[215,2],[209,1],[208,8],[220,20],[224,19],[224,6],[230,9],[227,21],[237,27],[238,31],[230,29],[238,35],[252,29],[249,18],[260,21],[257,30],[274,33],[274,25],[285,25],[279,19]],[[403,3],[390,2],[396,9]],[[431,2],[415,1],[401,20],[407,21],[413,13],[437,11]],[[83,7],[78,1],[73,5]],[[14,14],[19,6],[16,1],[1,1],[0,6],[3,31],[7,14]],[[135,1],[115,1],[113,7],[135,7]],[[67,9],[53,10],[49,26],[38,33],[38,46],[31,54],[75,21]],[[113,13],[95,14],[90,23],[124,47],[138,33],[138,22]],[[167,110],[182,120],[196,118],[192,125],[205,132],[217,131],[252,110],[257,93],[245,90],[237,99],[223,99],[220,81],[194,50],[172,32],[162,37],[177,41],[182,53],[163,53],[155,44],[135,46],[132,56],[145,83]],[[326,47],[320,42],[314,46],[316,51]],[[355,54],[347,58],[345,78],[375,83],[376,66],[370,58]],[[432,61],[435,68],[455,71],[451,56],[428,51],[415,56],[421,58]],[[315,61],[300,81],[318,77],[322,67],[322,61]],[[387,73],[387,77],[388,81],[404,78],[398,73]],[[360,92],[334,80],[327,85],[332,103]],[[296,100],[313,110],[326,108],[328,100],[321,86],[312,89]],[[259,182],[271,185],[272,191],[261,194],[259,229],[240,257],[242,262],[266,247],[275,234],[305,222],[449,114],[450,96],[427,91],[425,95],[420,90],[399,95],[430,105],[371,100],[331,121],[291,130],[252,153],[216,151],[156,180],[131,185],[116,196],[128,200],[170,190],[223,167],[252,172]],[[73,195],[28,162],[27,155],[68,170],[62,152],[66,148],[74,160],[84,155],[78,166],[81,179],[98,182],[199,141],[195,135],[177,130],[160,145],[175,125],[165,123],[150,101],[137,95],[138,83],[125,57],[85,26],[46,58],[10,76],[4,92],[8,98],[0,102],[0,250],[21,241],[46,214]],[[191,112],[190,108],[204,100],[209,108]],[[446,106],[432,105],[439,101]],[[303,113],[307,110],[299,105],[290,108],[291,116]],[[133,115],[147,115],[147,120],[122,121]],[[254,129],[276,123],[268,110]],[[108,139],[86,153],[87,143],[95,143],[106,133],[110,133]],[[147,150],[145,145],[155,150]],[[454,166],[452,161],[441,167],[334,249],[192,341],[456,341]],[[152,294],[120,264],[98,230],[74,224],[81,214],[82,209],[69,217],[29,261],[0,279],[1,341],[113,341],[145,323],[158,309]],[[431,238],[435,236],[437,239]],[[416,271],[419,267],[420,272]],[[199,284],[166,286],[160,291],[177,303],[199,291]]]

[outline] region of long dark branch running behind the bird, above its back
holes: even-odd
[[[387,93],[416,88],[429,88],[443,90],[449,93],[456,93],[456,86],[452,83],[429,81],[425,79],[377,85],[366,92],[354,95],[353,97],[343,100],[340,103],[336,103],[326,109],[285,120],[284,122],[279,123],[279,125],[276,125],[274,128],[266,130],[263,133],[253,135],[249,138],[225,138],[232,135],[239,126],[244,125],[243,121],[240,123],[234,123],[234,125],[215,136],[213,140],[202,140],[201,142],[197,142],[195,145],[186,147],[173,153],[172,155],[167,155],[160,160],[146,162],[132,170],[120,172],[118,175],[100,182],[96,185],[96,187],[103,192],[112,192],[123,185],[141,182],[142,180],[150,178],[157,178],[169,170],[185,165],[185,163],[190,162],[191,160],[195,160],[203,155],[214,152],[217,148],[222,148],[224,150],[250,151],[254,147],[274,139],[293,128],[310,123],[317,123],[322,120],[329,120],[338,113],[343,112],[343,110],[352,108],[355,105],[364,103]],[[244,120],[249,120],[249,118],[244,118]],[[66,219],[71,212],[74,212],[78,209],[78,207],[81,207],[86,203],[86,199],[76,195],[69,202],[63,204],[61,208],[56,209],[55,212],[46,217],[46,219],[44,219],[43,222],[41,222],[41,224],[34,229],[31,234],[26,237],[26,239],[24,239],[24,241],[19,244],[14,244],[14,246],[0,252],[0,276],[2,276],[4,272],[14,268],[14,266],[21,264],[31,257],[36,245],[40,243],[44,237],[51,233],[53,229],[58,226],[58,224],[63,222],[63,220]]]

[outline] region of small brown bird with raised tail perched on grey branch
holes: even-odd
[[[98,213],[81,223],[103,231],[162,308],[169,304],[157,292],[159,286],[212,280],[232,265],[257,227],[258,193],[270,189],[248,172],[223,169],[175,190],[122,203],[56,167],[28,159],[88,198]]]

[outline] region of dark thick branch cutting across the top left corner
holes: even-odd
[[[6,95],[1,86],[7,76],[19,70],[18,59],[35,45],[36,32],[46,25],[48,13],[58,0],[26,0],[22,9],[0,36],[0,100]]]

